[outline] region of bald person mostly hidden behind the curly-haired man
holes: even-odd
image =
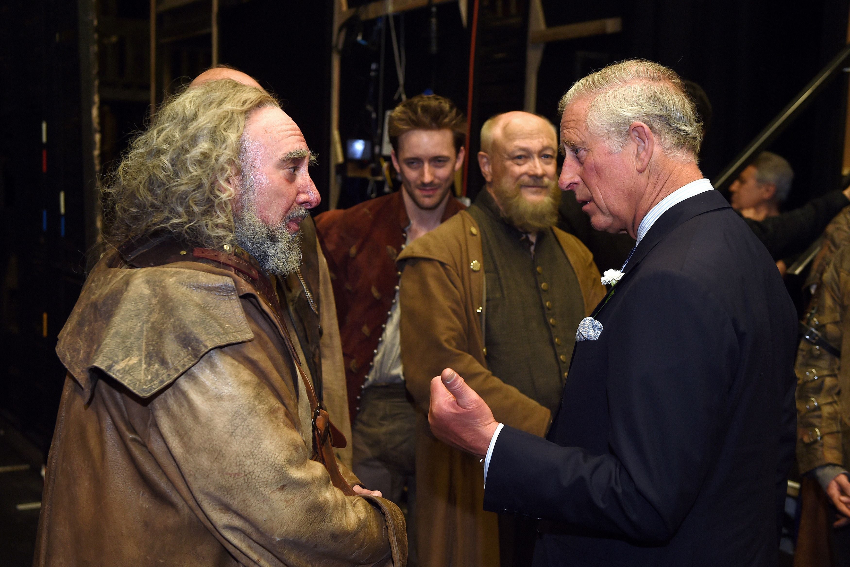
[[[232,79],[243,85],[263,88],[257,79],[229,65],[207,69],[195,77],[190,88],[221,79]],[[298,346],[305,355],[306,368],[318,386],[316,394],[320,396],[331,421],[350,440],[351,422],[348,418],[348,394],[343,347],[337,326],[337,308],[333,299],[331,275],[310,215],[301,221],[298,242],[301,246],[301,265],[286,276],[281,287],[286,293],[286,305],[297,329]],[[351,446],[351,443],[347,443],[344,447],[334,448],[337,459],[348,468],[352,467]]]

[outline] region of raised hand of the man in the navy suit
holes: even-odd
[[[431,381],[428,423],[437,439],[479,458],[487,454],[499,426],[490,407],[450,368]]]

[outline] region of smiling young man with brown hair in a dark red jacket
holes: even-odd
[[[449,99],[419,95],[390,114],[392,160],[402,189],[323,213],[316,228],[331,270],[352,419],[354,471],[372,490],[405,501],[408,535],[416,485],[415,414],[399,349],[395,258],[463,208],[450,195],[463,163],[466,122]],[[415,544],[411,543],[411,550]],[[416,554],[411,553],[411,564]]]

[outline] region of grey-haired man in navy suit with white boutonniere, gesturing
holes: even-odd
[[[674,71],[610,65],[560,110],[558,184],[637,246],[575,331],[546,439],[496,422],[448,368],[431,431],[482,460],[485,509],[545,520],[535,565],[775,565],[796,437],[779,272],[700,172],[702,125]]]

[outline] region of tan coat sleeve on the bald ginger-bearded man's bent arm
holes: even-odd
[[[493,376],[470,354],[481,348],[469,343],[479,322],[468,319],[463,297],[461,280],[449,266],[425,258],[406,261],[399,287],[401,359],[416,405],[428,413],[431,379],[452,368],[490,405],[497,421],[545,434],[551,412]]]

